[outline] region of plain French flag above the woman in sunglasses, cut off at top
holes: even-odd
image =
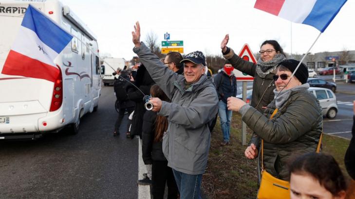
[[[328,27],[346,0],[257,0],[254,8],[308,24],[320,32]]]

